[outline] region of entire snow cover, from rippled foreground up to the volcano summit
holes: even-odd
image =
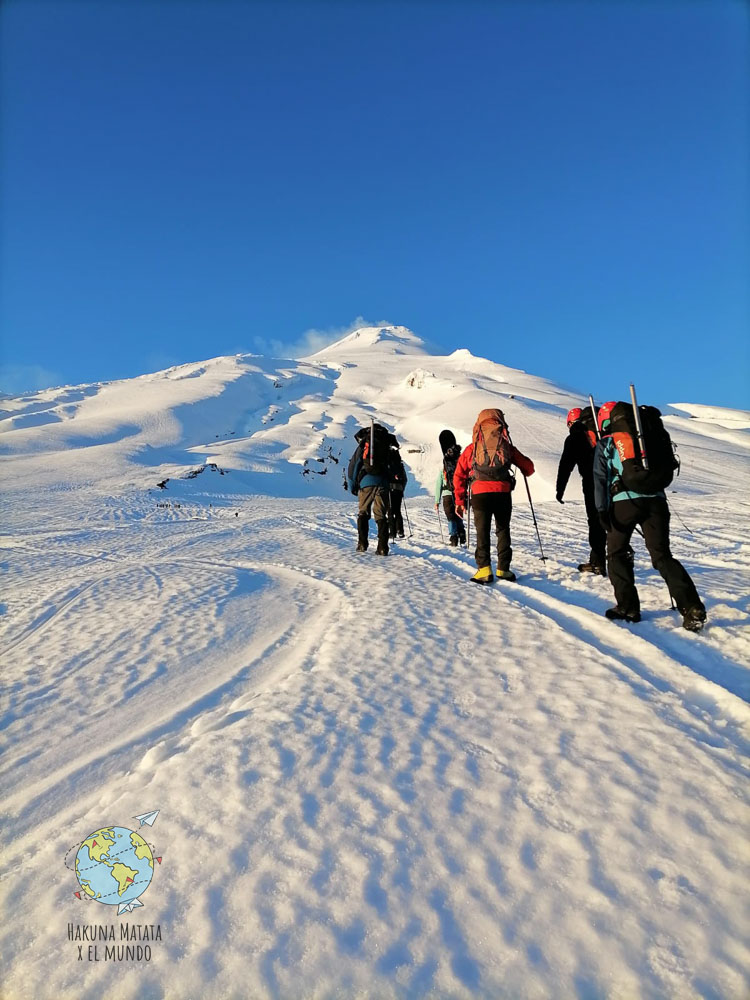
[[[580,402],[398,327],[2,400],[3,998],[748,995],[750,419],[667,418],[693,636],[642,548],[638,627],[575,572]],[[431,492],[488,405],[549,558],[517,491],[519,582],[477,591]],[[371,416],[412,477],[388,560],[341,489]],[[71,847],[154,809],[143,908],[79,901]],[[160,938],[79,960],[99,924]]]

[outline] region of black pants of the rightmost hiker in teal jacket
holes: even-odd
[[[681,613],[703,607],[695,584],[669,550],[669,506],[663,497],[639,497],[612,504],[612,530],[607,533],[609,579],[615,590],[617,606],[629,614],[641,610],[633,577],[630,538],[640,524],[651,564],[664,577]]]

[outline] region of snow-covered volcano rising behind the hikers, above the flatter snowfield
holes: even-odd
[[[103,490],[164,480],[174,490],[205,467],[229,474],[233,492],[340,497],[353,434],[374,417],[396,432],[413,479],[430,490],[439,432],[449,427],[466,443],[479,410],[498,406],[536,464],[534,494],[545,501],[554,498],[565,414],[583,402],[581,393],[466,350],[430,353],[404,327],[365,327],[299,361],[242,354],[5,399],[0,453],[11,488],[62,474]],[[748,415],[679,409],[689,416],[667,419],[686,471],[675,488],[713,491],[725,476],[741,478]],[[211,489],[206,482],[195,488]]]

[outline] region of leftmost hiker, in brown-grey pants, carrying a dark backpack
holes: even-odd
[[[347,478],[350,493],[359,498],[357,552],[367,551],[372,515],[378,528],[377,554],[388,555],[390,437],[389,431],[380,424],[362,428],[354,435],[357,449],[349,460]]]

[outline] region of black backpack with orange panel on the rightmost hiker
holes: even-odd
[[[679,475],[680,462],[675,447],[655,406],[639,406],[643,443],[648,469],[644,468],[638,443],[635,415],[630,403],[616,403],[610,413],[609,433],[622,462],[622,476],[613,483],[616,492],[658,493]]]

